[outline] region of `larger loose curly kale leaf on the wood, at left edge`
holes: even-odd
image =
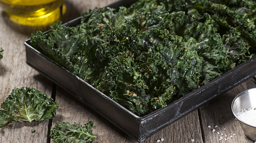
[[[0,127],[2,128],[11,122],[52,119],[56,115],[59,104],[33,87],[22,87],[13,89],[1,107],[3,108],[0,110]]]

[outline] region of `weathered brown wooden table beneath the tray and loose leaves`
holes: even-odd
[[[117,0],[66,0],[65,3],[69,14],[66,14],[63,21],[70,21],[80,16],[82,12],[88,11],[89,8],[103,7],[115,1]],[[49,137],[49,131],[57,120],[60,122],[69,121],[72,124],[80,122],[83,125],[88,119],[93,119],[96,125],[96,129],[93,130],[94,135],[97,136],[96,143],[136,142],[95,111],[74,99],[64,89],[56,86],[29,67],[26,64],[23,42],[30,38],[31,32],[29,30],[20,32],[19,27],[8,21],[8,18],[2,14],[1,9],[0,11],[0,47],[4,49],[3,59],[0,60],[0,102],[2,103],[6,99],[13,88],[28,86],[47,93],[60,104],[60,108],[53,119],[38,122],[32,121],[32,123],[15,122],[11,123],[13,127],[1,128],[1,143],[53,142]],[[155,143],[163,138],[164,141],[160,141],[160,143],[186,143],[192,142],[191,139],[194,139],[194,142],[206,143],[253,143],[254,141],[244,135],[230,108],[232,100],[238,93],[252,87],[256,87],[254,77],[167,126],[143,142]],[[216,125],[218,127],[215,127]],[[35,133],[31,133],[32,129],[35,130]],[[212,132],[213,129],[215,129],[215,132]],[[223,135],[219,135],[217,132]],[[227,135],[229,139],[225,141],[224,139],[227,137],[224,135]],[[220,136],[223,137],[222,140],[219,140]]]

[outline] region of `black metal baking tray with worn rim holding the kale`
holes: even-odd
[[[135,1],[120,0],[108,5],[108,7],[118,9],[119,6],[129,6]],[[63,26],[75,26],[79,23],[80,18],[77,18],[63,24]],[[254,56],[166,107],[139,117],[34,49],[29,45],[29,41],[30,39],[24,42],[27,64],[29,66],[69,91],[79,101],[94,109],[138,142],[145,140],[147,137],[256,74],[256,56]]]

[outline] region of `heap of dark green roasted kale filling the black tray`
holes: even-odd
[[[144,116],[254,56],[255,19],[252,0],[139,0],[58,22],[30,44]]]

